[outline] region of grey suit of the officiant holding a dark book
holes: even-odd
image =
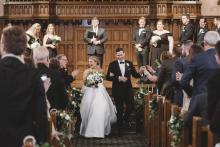
[[[96,34],[94,35],[94,37],[97,39],[97,41],[100,41],[100,44],[95,45],[92,43],[91,41],[92,37],[89,36],[90,32],[94,32]],[[84,41],[88,44],[87,54],[89,56],[96,55],[100,60],[101,67],[103,63],[103,54],[105,53],[104,43],[106,42],[106,40],[107,40],[107,36],[103,28],[97,28],[96,30],[94,30],[93,28],[90,28],[86,30],[84,34]]]

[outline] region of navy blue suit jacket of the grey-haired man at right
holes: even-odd
[[[184,72],[180,84],[185,86],[193,78],[192,97],[207,91],[208,78],[219,68],[215,53],[212,48],[195,55]]]

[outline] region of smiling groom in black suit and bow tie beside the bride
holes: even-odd
[[[125,60],[123,48],[116,49],[116,58],[117,60],[109,64],[106,79],[112,81],[112,95],[117,109],[118,135],[121,135],[123,121],[129,123],[129,115],[133,110],[131,75],[135,78],[141,76],[135,70],[133,63]],[[141,67],[140,71],[143,72],[143,70]],[[126,104],[125,112],[123,112],[124,104]]]

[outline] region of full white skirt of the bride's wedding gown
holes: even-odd
[[[116,109],[102,83],[98,88],[84,87],[80,114],[80,135],[104,138],[111,132],[111,124],[117,119]]]

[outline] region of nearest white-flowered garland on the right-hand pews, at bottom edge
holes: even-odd
[[[171,135],[170,145],[177,147],[181,141],[182,130],[184,127],[184,121],[180,113],[172,114],[168,121],[169,134]]]

